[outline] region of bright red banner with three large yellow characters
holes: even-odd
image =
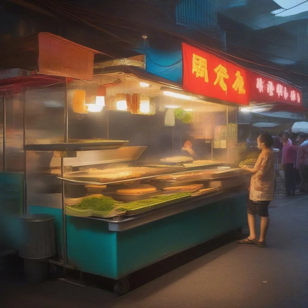
[[[186,43],[182,53],[184,91],[249,104],[247,70]]]

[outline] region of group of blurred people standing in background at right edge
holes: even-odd
[[[281,163],[285,175],[286,195],[305,192],[308,181],[308,135],[304,133],[279,134],[282,144]]]

